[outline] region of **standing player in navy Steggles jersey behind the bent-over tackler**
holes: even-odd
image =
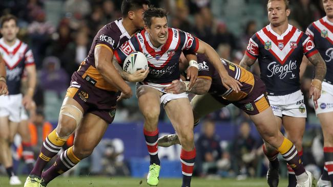
[[[314,42],[305,33],[288,24],[290,14],[288,5],[287,0],[268,1],[267,11],[270,24],[249,40],[240,65],[249,68],[258,59],[260,78],[266,85],[275,119],[280,126],[283,124],[287,138],[295,144],[301,155],[306,109],[300,90],[300,64],[305,55],[315,65],[316,77],[310,87],[310,96],[313,96],[315,101],[320,97],[326,66],[316,50]],[[269,186],[276,187],[279,181],[279,160],[276,157],[278,152],[266,143],[263,149],[270,159],[267,182]],[[299,175],[293,171],[292,167],[288,166],[289,187],[297,185],[296,179]]]

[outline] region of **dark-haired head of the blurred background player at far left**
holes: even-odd
[[[17,27],[17,18],[11,14],[4,15],[0,18],[1,34],[7,41],[13,41],[16,39],[16,35],[19,31]]]

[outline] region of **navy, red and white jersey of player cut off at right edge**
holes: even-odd
[[[306,34],[314,40],[316,48],[326,62],[327,74],[324,81],[333,84],[333,22],[327,16],[313,22],[306,29]]]

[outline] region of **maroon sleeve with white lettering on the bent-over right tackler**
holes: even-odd
[[[198,54],[198,78],[211,79],[214,75],[214,66],[208,61],[203,54]]]

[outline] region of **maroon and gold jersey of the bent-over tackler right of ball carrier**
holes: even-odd
[[[241,66],[221,58],[221,63],[228,75],[235,78],[243,86],[236,93],[232,89],[226,89],[213,64],[204,56],[198,57],[198,78],[212,80],[208,93],[223,105],[234,104],[249,115],[256,115],[269,108],[266,88],[258,76],[253,75]]]

